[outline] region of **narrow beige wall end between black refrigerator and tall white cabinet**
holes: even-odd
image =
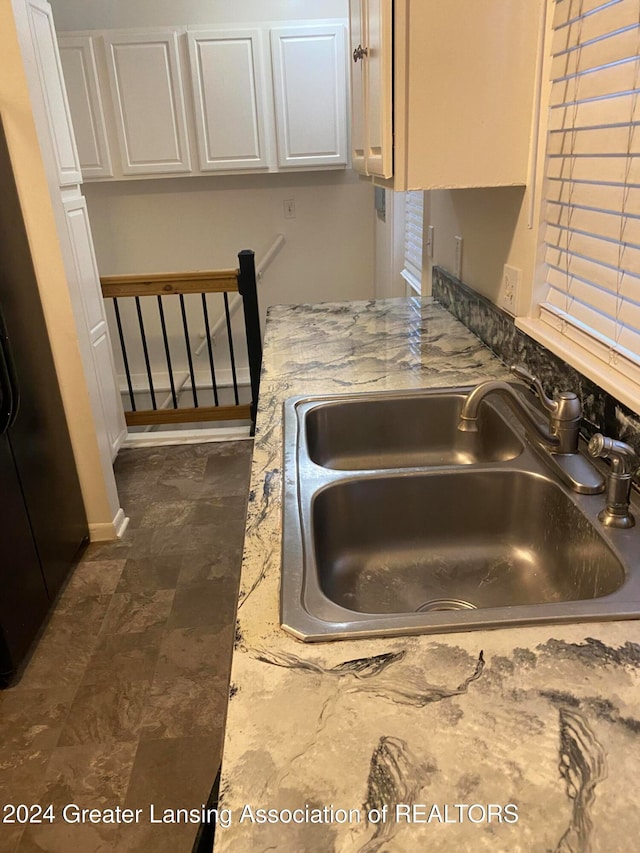
[[[10,0],[0,0],[0,112],[90,524],[112,524],[89,396]]]

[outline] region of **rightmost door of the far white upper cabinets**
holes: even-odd
[[[341,24],[271,30],[280,168],[346,164],[345,47]]]

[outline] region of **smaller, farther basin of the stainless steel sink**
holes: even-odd
[[[468,390],[468,389],[467,389]],[[335,470],[391,469],[500,462],[522,442],[488,401],[478,432],[458,430],[466,393],[354,395],[306,407],[309,458]]]

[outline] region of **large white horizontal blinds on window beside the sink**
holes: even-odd
[[[541,319],[640,382],[640,0],[556,0]]]

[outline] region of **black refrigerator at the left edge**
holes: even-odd
[[[0,121],[0,686],[18,671],[87,541],[67,421]]]

